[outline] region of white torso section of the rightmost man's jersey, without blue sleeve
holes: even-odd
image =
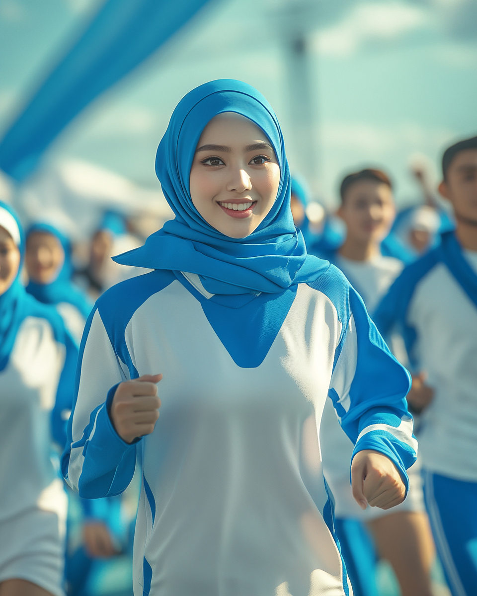
[[[477,482],[477,308],[439,263],[417,284],[407,320],[417,331],[420,368],[435,391],[422,416],[423,466]]]

